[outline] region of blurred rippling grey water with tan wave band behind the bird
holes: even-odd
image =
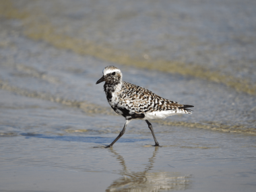
[[[116,65],[124,81],[196,105],[194,123],[255,133],[254,1],[21,0],[0,12],[2,90],[114,114],[95,82]]]

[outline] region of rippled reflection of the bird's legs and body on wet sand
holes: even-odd
[[[152,171],[158,146],[155,147],[153,155],[148,159],[148,164],[144,171],[129,171],[125,164],[123,156],[110,148],[120,162],[123,169],[119,175],[122,177],[113,181],[106,191],[172,191],[185,190],[191,186],[191,175],[181,175],[179,173],[154,172]]]

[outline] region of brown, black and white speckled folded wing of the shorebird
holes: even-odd
[[[164,99],[143,87],[123,82],[121,93],[119,93],[119,107],[129,109],[131,113],[140,114],[184,109],[189,105],[181,105],[175,101]]]

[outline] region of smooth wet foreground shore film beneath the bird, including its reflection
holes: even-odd
[[[9,91],[1,91],[1,106],[1,191],[255,188],[255,136],[153,124],[161,144],[154,147],[146,123],[134,121],[105,149],[124,119]]]

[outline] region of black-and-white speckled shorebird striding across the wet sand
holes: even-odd
[[[145,120],[152,132],[155,145],[160,146],[156,140],[153,126],[149,119],[164,119],[170,115],[191,114],[193,105],[182,105],[176,101],[164,99],[146,88],[123,81],[123,74],[116,66],[106,66],[103,76],[96,84],[104,83],[106,99],[114,111],[125,117],[125,126],[119,136],[105,148],[111,148],[125,134],[129,122],[133,119]]]

